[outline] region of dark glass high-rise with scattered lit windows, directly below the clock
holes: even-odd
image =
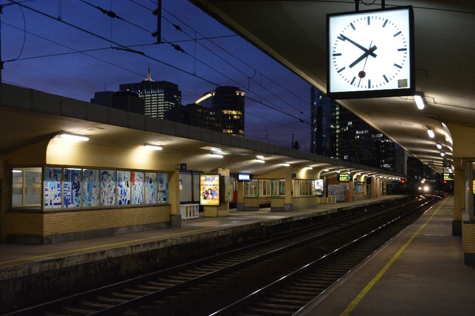
[[[311,153],[400,171],[392,140],[315,87],[311,88],[311,108]]]

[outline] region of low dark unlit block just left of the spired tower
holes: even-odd
[[[143,99],[139,98],[137,93],[101,91],[95,92],[91,103],[102,105],[109,108],[128,111],[137,114],[144,114]]]

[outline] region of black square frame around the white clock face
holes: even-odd
[[[394,11],[401,9],[409,9],[409,71],[411,74],[410,86],[403,89],[385,89],[385,90],[362,90],[362,91],[346,91],[346,92],[331,92],[330,82],[330,17],[339,15],[353,15],[361,13],[374,13]],[[343,99],[366,99],[366,98],[386,98],[386,97],[401,97],[410,96],[416,94],[416,65],[414,59],[414,11],[412,5],[398,6],[394,8],[363,10],[363,11],[350,11],[340,13],[327,14],[327,96],[332,100]]]

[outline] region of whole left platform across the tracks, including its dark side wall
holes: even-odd
[[[63,296],[145,271],[163,269],[204,252],[272,236],[353,209],[389,205],[407,196],[325,203],[292,212],[231,210],[226,217],[182,220],[182,227],[48,245],[0,244],[0,305],[30,300],[33,292]],[[202,215],[200,215],[202,216]],[[315,223],[315,222],[314,222]],[[267,232],[267,234],[266,234]],[[30,303],[34,303],[31,301]]]

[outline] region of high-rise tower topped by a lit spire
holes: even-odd
[[[119,91],[139,94],[145,104],[144,114],[154,118],[168,119],[169,111],[182,104],[182,91],[178,90],[178,84],[152,80],[150,66],[147,79],[138,83],[120,84]]]

